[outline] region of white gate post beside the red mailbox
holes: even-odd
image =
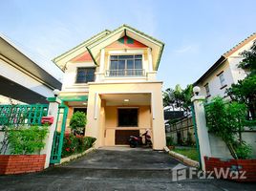
[[[49,101],[47,116],[53,117],[53,124],[49,126],[49,134],[48,138],[46,138],[46,145],[44,148],[44,153],[46,154],[45,168],[48,168],[50,164],[51,152],[53,147],[53,136],[57,124],[58,106],[61,103],[61,100],[58,97],[48,97],[47,100]]]

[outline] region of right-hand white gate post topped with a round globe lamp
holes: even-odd
[[[203,171],[205,171],[204,156],[211,157],[211,148],[210,148],[210,142],[209,142],[208,129],[206,127],[206,118],[205,118],[204,105],[203,105],[205,96],[198,96],[200,92],[199,87],[194,87],[193,92],[195,93],[195,95],[191,98],[191,101],[194,104],[194,110],[195,110],[197,134],[199,139],[200,154],[201,154],[201,161],[202,161],[202,169]]]

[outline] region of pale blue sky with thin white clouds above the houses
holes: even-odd
[[[48,60],[125,23],[165,43],[158,78],[164,88],[184,87],[256,32],[255,8],[255,0],[9,0],[0,32],[59,77]]]

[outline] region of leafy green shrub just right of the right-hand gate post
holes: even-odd
[[[209,131],[224,140],[234,159],[245,159],[249,156],[251,149],[241,136],[246,124],[245,104],[226,102],[217,96],[205,105],[205,115]]]

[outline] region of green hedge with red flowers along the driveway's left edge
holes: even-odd
[[[95,141],[96,138],[92,137],[74,136],[72,134],[65,135],[61,157],[65,158],[76,153],[82,153],[91,148]]]

